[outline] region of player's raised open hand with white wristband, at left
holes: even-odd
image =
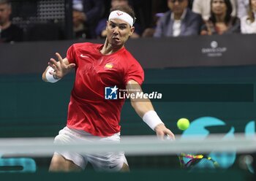
[[[53,79],[60,80],[73,68],[75,68],[75,63],[69,63],[68,59],[61,58],[61,55],[59,55],[59,53],[56,53],[56,56],[59,61],[56,61],[54,58],[50,58],[50,61],[48,62],[48,67],[42,74],[42,80],[44,80],[45,82],[50,82],[47,78],[50,75],[53,76]]]

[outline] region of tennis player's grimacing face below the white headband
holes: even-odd
[[[113,47],[122,47],[127,42],[129,36],[132,35],[134,29],[124,20],[111,19],[107,23],[108,42]]]

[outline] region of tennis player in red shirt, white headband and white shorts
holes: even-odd
[[[69,101],[67,126],[59,131],[56,143],[77,141],[119,142],[120,115],[124,99],[105,99],[105,88],[142,91],[140,85],[144,72],[138,61],[124,47],[135,28],[135,13],[131,7],[110,10],[107,22],[108,35],[104,45],[92,43],[74,44],[67,50],[67,57],[50,58],[48,68],[42,74],[45,82],[57,82],[75,69],[75,84]],[[132,107],[159,136],[174,139],[165,127],[149,99],[130,99]],[[91,163],[99,171],[129,171],[123,152],[93,155],[78,153],[54,153],[50,163],[51,172],[69,172],[85,169]]]

